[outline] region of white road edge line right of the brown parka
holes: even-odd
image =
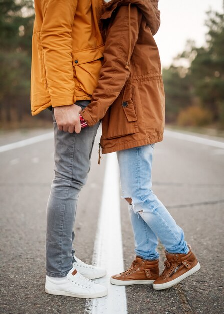
[[[224,149],[224,142],[208,139],[200,136],[190,135],[186,133],[180,133],[176,131],[165,130],[164,135],[167,137],[187,140],[189,142],[194,142],[198,144],[204,144],[212,147],[222,148]]]

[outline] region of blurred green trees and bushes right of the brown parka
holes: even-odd
[[[167,101],[167,120],[182,124],[183,115],[189,116],[189,112],[183,108],[190,107],[195,99],[200,100],[201,113],[210,112],[210,119],[202,119],[205,123],[216,122],[224,127],[224,15],[209,11],[206,25],[208,33],[205,47],[196,48],[193,42],[188,41],[186,50],[175,59],[175,63],[187,61],[188,68],[181,66],[164,70],[164,83]],[[175,69],[175,71],[174,71]],[[175,72],[175,75],[174,75]],[[181,75],[184,73],[184,75]],[[178,88],[176,92],[174,89]],[[180,95],[180,96],[179,96]],[[198,109],[196,109],[198,110]],[[197,115],[199,111],[195,111]],[[179,117],[179,118],[178,118]],[[186,118],[186,120],[189,120]],[[200,118],[198,125],[201,124]],[[185,123],[185,122],[184,122]],[[190,122],[189,122],[190,123]]]

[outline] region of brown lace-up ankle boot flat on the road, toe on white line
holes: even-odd
[[[140,257],[132,262],[124,272],[110,278],[116,285],[152,284],[159,277],[159,260],[145,260]]]

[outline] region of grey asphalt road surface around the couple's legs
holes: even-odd
[[[3,133],[0,146],[49,131]],[[98,140],[99,135],[96,144]],[[87,263],[93,255],[107,159],[103,155],[101,165],[97,164],[97,148],[75,223],[76,254]],[[153,190],[184,229],[201,270],[163,291],[127,287],[128,314],[222,313],[224,149],[166,136],[155,145],[153,163]],[[88,313],[85,299],[44,292],[45,208],[52,178],[52,139],[0,153],[1,313]],[[127,268],[134,251],[124,200],[121,225]],[[159,252],[162,269],[161,245]]]

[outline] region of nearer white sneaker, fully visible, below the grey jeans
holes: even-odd
[[[74,267],[62,280],[46,276],[45,292],[81,298],[97,298],[107,295],[107,288],[83,277]]]

